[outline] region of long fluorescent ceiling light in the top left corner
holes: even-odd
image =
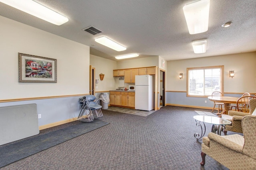
[[[55,25],[62,25],[68,21],[68,18],[32,0],[0,0],[0,2]]]

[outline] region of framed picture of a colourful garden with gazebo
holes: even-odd
[[[57,82],[57,59],[18,53],[19,82]]]

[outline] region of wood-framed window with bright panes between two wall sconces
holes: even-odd
[[[223,90],[224,66],[187,68],[187,96],[211,96]]]

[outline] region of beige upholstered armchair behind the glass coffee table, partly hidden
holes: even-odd
[[[227,131],[237,132],[237,133],[243,133],[242,129],[242,118],[246,115],[251,115],[256,107],[256,99],[253,98],[249,101],[250,106],[250,112],[244,113],[240,111],[228,111],[228,115],[222,115],[222,119],[226,119],[231,121],[231,125],[226,125],[226,129],[224,130],[224,134],[226,135]]]

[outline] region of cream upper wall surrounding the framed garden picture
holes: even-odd
[[[2,16],[0,23],[0,100],[89,93],[88,46]],[[57,59],[57,83],[19,83],[18,53]]]

